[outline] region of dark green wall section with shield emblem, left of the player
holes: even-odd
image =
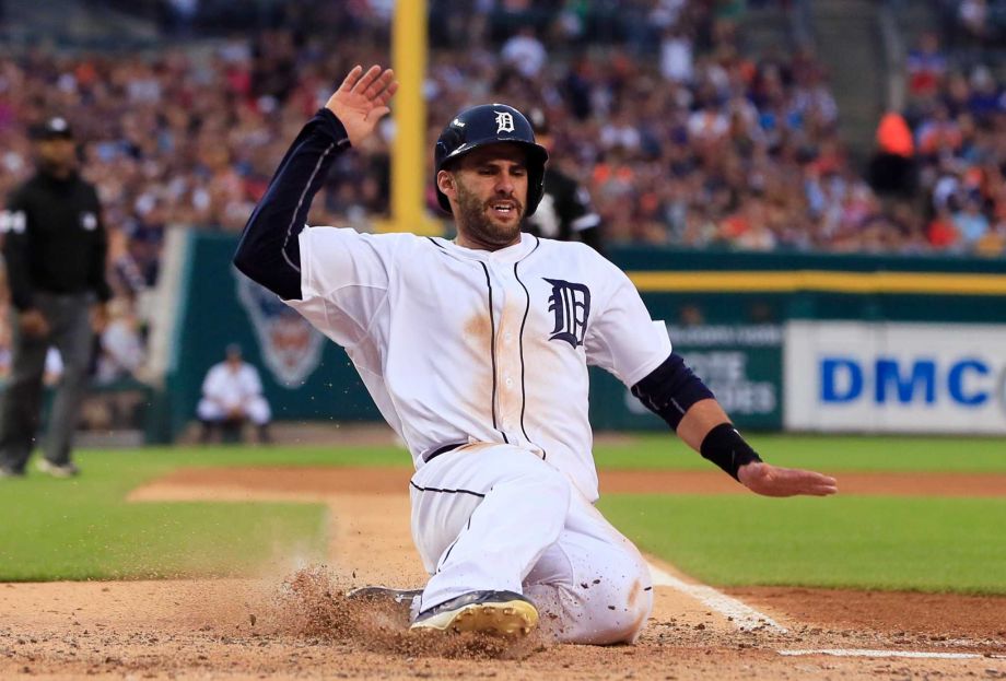
[[[171,441],[196,418],[206,373],[230,343],[258,368],[274,419],[379,420],[346,352],[234,269],[236,246],[235,235],[189,234],[162,413],[150,438]]]

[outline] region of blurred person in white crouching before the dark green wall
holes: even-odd
[[[196,409],[202,423],[200,441],[209,442],[217,427],[237,428],[249,420],[258,427],[258,441],[268,443],[272,412],[262,396],[258,371],[244,362],[237,344],[227,345],[226,357],[210,367],[202,381],[202,399]]]

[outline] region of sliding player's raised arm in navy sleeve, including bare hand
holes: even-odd
[[[331,162],[374,130],[398,84],[390,70],[355,67],[286,151],[242,233],[234,266],[281,298],[301,298],[299,235]],[[344,118],[344,119],[343,119]]]

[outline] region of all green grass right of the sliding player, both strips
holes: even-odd
[[[826,472],[1006,473],[1003,438],[749,439],[772,463]],[[715,470],[669,435],[597,458],[605,468]],[[606,495],[599,507],[644,550],[713,585],[1006,594],[1006,500]]]

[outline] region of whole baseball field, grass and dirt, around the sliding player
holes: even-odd
[[[745,493],[669,436],[601,438],[604,513],[644,551],[635,646],[431,638],[346,589],[423,580],[408,455],[93,451],[0,484],[0,678],[1006,678],[1006,441],[752,436],[832,498]]]

